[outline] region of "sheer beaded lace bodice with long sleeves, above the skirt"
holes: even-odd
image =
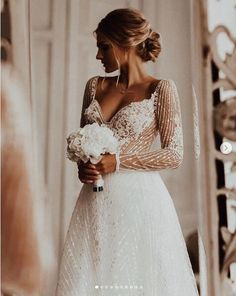
[[[149,99],[131,102],[105,121],[96,100],[98,76],[86,85],[81,126],[107,125],[119,140],[120,169],[161,170],[177,168],[183,158],[183,135],[178,92],[172,80],[161,80]],[[151,151],[156,136],[161,149]]]

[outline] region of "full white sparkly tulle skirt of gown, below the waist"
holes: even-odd
[[[196,296],[171,196],[158,172],[84,185],[62,255],[57,296]]]

